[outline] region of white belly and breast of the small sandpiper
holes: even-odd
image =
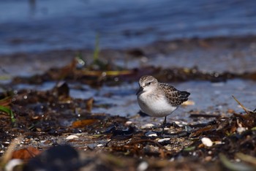
[[[173,107],[167,102],[165,96],[158,96],[158,98],[154,98],[154,96],[140,94],[137,99],[141,110],[143,110],[144,113],[154,117],[164,117],[170,115],[174,110],[177,109],[177,107]]]

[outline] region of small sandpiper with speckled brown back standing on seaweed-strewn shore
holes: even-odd
[[[139,80],[137,99],[140,109],[153,117],[165,117],[162,124],[164,133],[166,117],[173,113],[180,104],[186,102],[189,92],[178,91],[167,83],[159,83],[155,77],[144,75]]]

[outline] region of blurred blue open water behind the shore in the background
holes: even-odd
[[[0,54],[256,33],[254,0],[2,0]]]

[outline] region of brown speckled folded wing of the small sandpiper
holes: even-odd
[[[173,86],[165,83],[159,83],[159,86],[165,91],[165,96],[172,106],[178,106],[181,103],[186,102],[190,95],[187,91],[178,91]]]

